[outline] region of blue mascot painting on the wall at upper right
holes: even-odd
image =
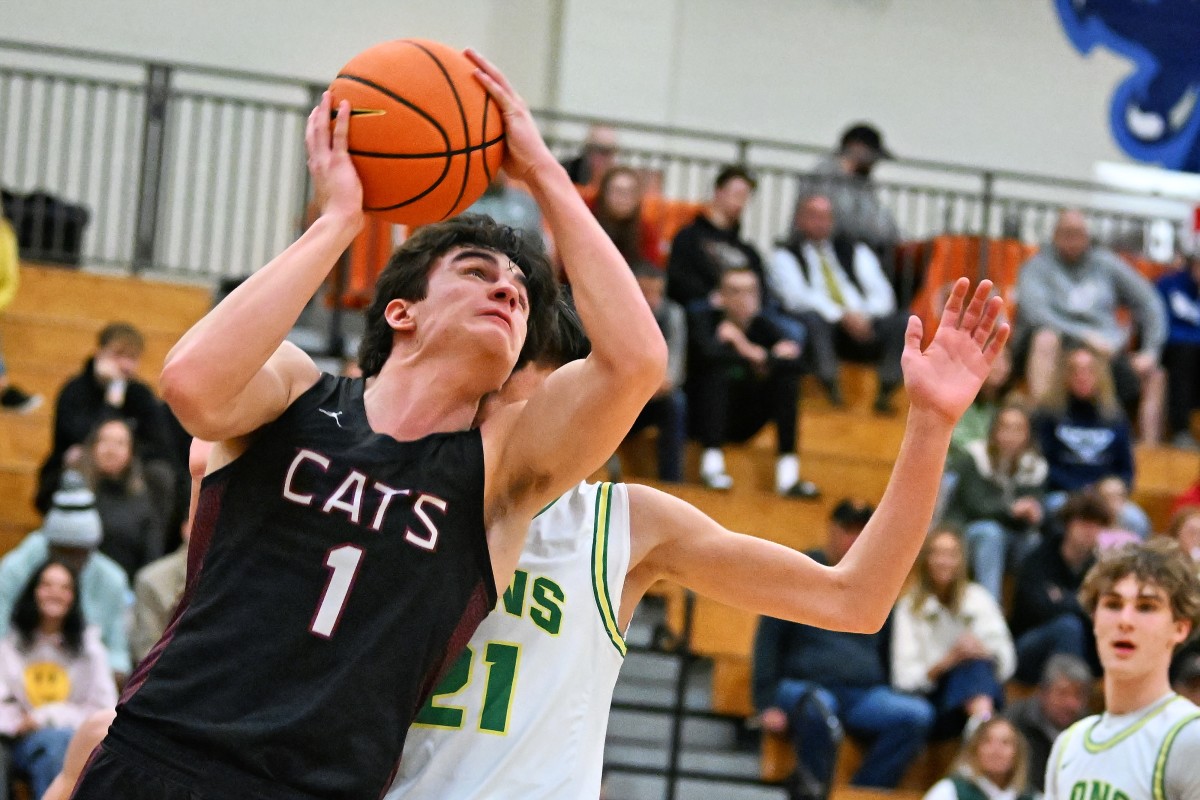
[[[1130,157],[1200,173],[1200,0],[1055,0],[1072,44],[1133,62],[1112,94],[1112,136]]]

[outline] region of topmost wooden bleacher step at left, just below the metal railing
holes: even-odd
[[[95,321],[126,320],[146,330],[187,330],[208,312],[206,285],[97,275],[24,263],[7,312]]]

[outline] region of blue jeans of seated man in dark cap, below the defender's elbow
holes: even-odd
[[[800,703],[812,693],[820,704]],[[840,732],[830,729],[821,705],[858,739],[870,742],[854,786],[894,789],[905,770],[925,746],[934,724],[929,700],[902,694],[888,686],[821,686],[808,680],[782,680],[775,705],[787,712],[796,754],[824,787],[833,780]]]

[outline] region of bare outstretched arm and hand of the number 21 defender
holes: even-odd
[[[941,326],[922,353],[920,323],[908,323],[905,384],[911,408],[900,455],[878,509],[846,557],[833,567],[754,536],[726,530],[689,504],[629,487],[632,566],[626,600],[636,603],[658,578],[757,614],[834,630],[872,632],[887,620],[917,558],[934,512],[954,423],[971,403],[1008,326],[1001,300],[979,285],[962,312],[970,283],[955,284]],[[959,319],[961,313],[962,319]],[[632,613],[632,606],[629,607]]]

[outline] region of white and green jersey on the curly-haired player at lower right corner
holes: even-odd
[[[1046,800],[1200,800],[1200,709],[1172,693],[1080,720],[1055,741],[1045,786]]]

